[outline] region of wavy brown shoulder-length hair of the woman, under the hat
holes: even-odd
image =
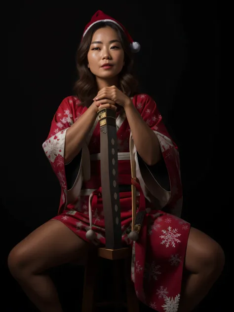
[[[95,75],[87,67],[87,54],[94,32],[106,26],[113,28],[117,32],[124,51],[125,64],[118,74],[118,88],[128,97],[133,97],[138,93],[138,80],[133,75],[133,54],[126,35],[112,22],[99,22],[87,31],[77,50],[78,80],[75,82],[74,92],[83,106],[89,107],[98,93]]]

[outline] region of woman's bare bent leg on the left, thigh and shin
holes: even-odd
[[[46,270],[85,256],[89,247],[62,222],[50,220],[11,250],[8,267],[39,311],[62,312]]]

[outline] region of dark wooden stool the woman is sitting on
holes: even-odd
[[[90,254],[85,266],[84,287],[83,287],[83,300],[82,312],[95,312],[97,307],[120,308],[126,307],[127,312],[139,312],[139,301],[135,293],[134,283],[131,280],[131,248],[121,249],[106,249],[98,248],[97,254]],[[100,271],[100,260],[109,259],[113,260],[112,273],[113,273],[113,287],[114,287],[114,300],[111,301],[96,301],[96,291],[98,286],[97,275]],[[123,264],[123,269],[121,269]],[[124,274],[123,274],[124,273]],[[126,300],[121,300],[121,277],[125,284]],[[112,307],[111,307],[112,306]],[[114,311],[119,311],[114,310]]]

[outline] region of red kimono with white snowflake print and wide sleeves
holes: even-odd
[[[190,224],[180,218],[179,154],[154,100],[147,94],[138,94],[131,99],[157,136],[163,159],[154,166],[144,163],[136,151],[126,115],[120,110],[116,122],[122,242],[132,246],[131,277],[139,300],[158,312],[176,312],[190,232]],[[43,149],[61,185],[59,211],[53,220],[60,220],[86,242],[90,242],[86,232],[92,228],[96,233],[95,242],[105,245],[98,119],[80,153],[69,164],[64,164],[66,131],[86,110],[78,98],[64,99],[54,115]],[[132,201],[131,188],[126,188],[126,184],[131,185],[130,161],[133,159],[141,186],[137,206],[142,205],[139,202],[140,194],[143,194],[147,212],[137,242],[128,238]],[[123,184],[125,188],[121,188]]]

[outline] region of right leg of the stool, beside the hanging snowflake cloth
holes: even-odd
[[[139,312],[139,300],[135,292],[134,283],[131,280],[131,257],[125,259],[125,283],[127,294],[127,312]]]

